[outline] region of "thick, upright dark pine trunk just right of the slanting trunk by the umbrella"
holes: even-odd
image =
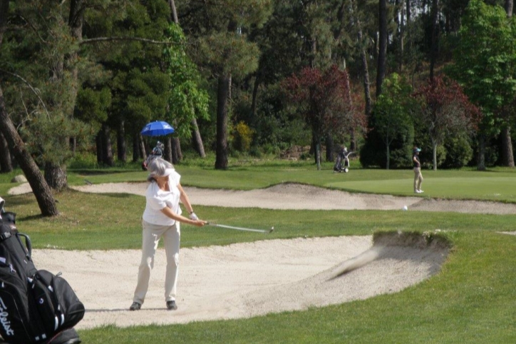
[[[215,169],[227,168],[227,104],[229,98],[230,76],[219,76],[217,87],[217,148]]]

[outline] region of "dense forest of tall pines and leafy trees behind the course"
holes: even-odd
[[[0,171],[46,216],[73,166],[280,156],[514,167],[512,0],[0,0]],[[323,157],[324,155],[324,157]],[[43,173],[41,173],[43,170]]]

